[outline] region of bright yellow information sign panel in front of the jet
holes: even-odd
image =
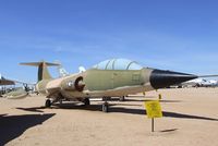
[[[145,101],[145,108],[148,118],[161,118],[162,111],[158,100]]]

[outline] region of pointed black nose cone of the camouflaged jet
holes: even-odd
[[[150,74],[150,85],[155,88],[165,88],[185,81],[197,78],[196,75],[172,71],[154,70]]]

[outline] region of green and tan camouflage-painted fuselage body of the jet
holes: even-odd
[[[90,69],[83,73],[72,74],[56,80],[43,80],[36,89],[48,98],[62,95],[64,98],[126,96],[154,89],[149,78],[154,70],[97,70]],[[77,77],[83,77],[85,85],[82,92],[69,86]]]

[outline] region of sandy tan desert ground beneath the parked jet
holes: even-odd
[[[158,94],[164,118],[155,119],[152,132],[145,100]],[[63,102],[44,108],[45,97],[20,100],[0,98],[0,145],[9,146],[217,146],[218,88],[160,89],[90,106]]]

